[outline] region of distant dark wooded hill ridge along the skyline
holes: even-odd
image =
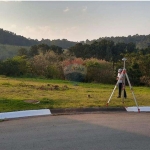
[[[15,46],[33,46],[33,45],[38,45],[38,44],[47,44],[49,46],[51,45],[56,45],[59,47],[62,47],[63,49],[68,49],[77,43],[83,43],[83,44],[92,44],[93,42],[101,41],[103,39],[106,40],[111,40],[114,41],[114,43],[130,43],[133,42],[136,44],[137,48],[147,48],[150,46],[150,34],[149,35],[129,35],[128,37],[101,37],[99,39],[94,39],[94,40],[86,40],[86,41],[81,41],[81,42],[73,42],[73,41],[68,41],[67,39],[56,39],[56,40],[49,40],[49,39],[42,39],[41,41],[38,41],[37,39],[30,39],[30,38],[25,38],[20,35],[16,35],[13,32],[6,31],[3,29],[0,29],[0,44],[4,45],[15,45]]]

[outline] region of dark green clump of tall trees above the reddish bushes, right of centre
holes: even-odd
[[[113,63],[114,69],[114,64],[122,58],[122,55],[135,52],[136,49],[134,43],[115,44],[112,41],[103,39],[100,42],[94,42],[91,45],[83,45],[82,43],[76,44],[71,47],[69,51],[76,57],[81,57],[83,59],[94,57],[97,59],[110,61]]]

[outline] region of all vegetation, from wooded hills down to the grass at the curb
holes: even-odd
[[[0,45],[0,111],[105,106],[123,57],[139,105],[149,105],[149,40],[149,35],[135,35],[80,43],[38,41],[0,29],[0,43],[11,45]],[[72,60],[87,68],[82,83],[65,80],[64,64]],[[125,105],[135,105],[130,89],[126,90]],[[122,106],[116,97],[117,93],[110,105]]]

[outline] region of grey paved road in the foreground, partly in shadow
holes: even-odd
[[[0,150],[149,150],[150,113],[32,117],[0,122]]]

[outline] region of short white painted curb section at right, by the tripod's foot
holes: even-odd
[[[136,106],[134,107],[125,107],[126,111],[128,112],[138,112],[138,108]],[[140,112],[150,112],[150,106],[142,106],[139,107]]]

